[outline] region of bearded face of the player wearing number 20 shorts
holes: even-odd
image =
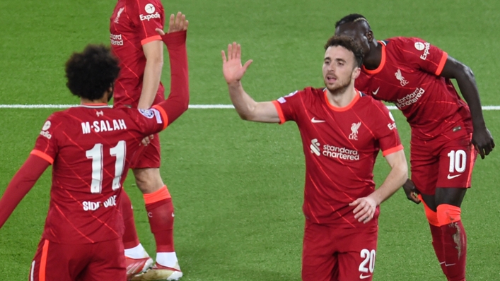
[[[354,54],[341,46],[330,46],[323,61],[323,79],[330,92],[342,92],[359,75]]]

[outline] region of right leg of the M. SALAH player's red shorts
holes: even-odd
[[[127,266],[120,239],[92,244],[92,257],[77,281],[127,280]]]

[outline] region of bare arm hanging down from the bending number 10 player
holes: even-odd
[[[484,155],[489,155],[492,152],[495,143],[492,134],[489,133],[484,123],[481,100],[479,99],[479,91],[477,90],[474,73],[465,64],[448,56],[443,71],[441,71],[441,76],[457,80],[458,88],[460,88],[463,98],[469,104],[470,114],[472,115],[472,126],[474,127],[472,144],[479,155],[481,155],[481,158],[484,159]]]

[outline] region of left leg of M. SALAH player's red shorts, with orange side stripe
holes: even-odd
[[[83,247],[42,239],[31,263],[30,281],[73,281],[86,267]]]

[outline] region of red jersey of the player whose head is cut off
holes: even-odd
[[[164,23],[160,0],[118,0],[110,18],[111,49],[120,59],[121,68],[115,82],[115,107],[137,107],[146,66],[142,45],[161,40],[155,29],[163,30]],[[153,104],[164,100],[164,91],[160,83]]]

